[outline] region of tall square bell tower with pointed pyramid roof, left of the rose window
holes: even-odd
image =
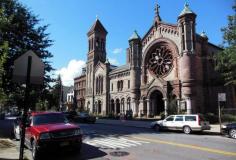
[[[95,94],[95,67],[98,62],[105,63],[106,61],[106,35],[107,31],[99,21],[96,19],[87,33],[88,36],[88,54],[87,54],[87,72],[86,72],[86,83],[87,83],[87,109],[93,112],[94,106],[94,94]]]

